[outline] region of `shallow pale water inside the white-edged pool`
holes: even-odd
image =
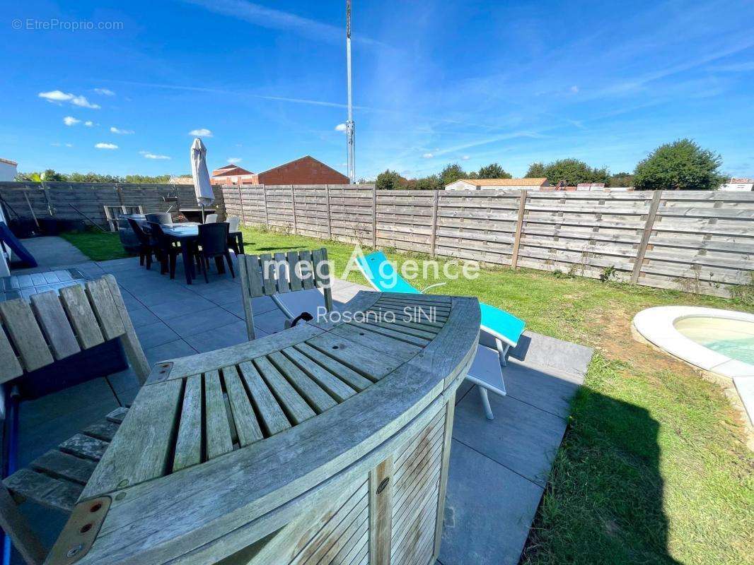
[[[754,365],[754,323],[710,316],[676,320],[676,330],[694,343],[730,359]]]

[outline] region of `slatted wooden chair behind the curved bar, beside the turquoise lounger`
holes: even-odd
[[[293,316],[293,313],[276,296],[278,294],[323,289],[325,308],[328,312],[333,311],[333,290],[330,288],[327,249],[289,251],[275,253],[274,256],[269,253],[238,255],[238,265],[241,272],[241,292],[244,297],[244,313],[249,340],[256,338],[252,311],[253,298],[270,297],[288,319],[287,327],[295,325],[297,318],[305,319],[305,316]]]

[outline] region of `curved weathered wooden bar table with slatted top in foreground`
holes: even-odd
[[[155,365],[47,563],[434,563],[477,299],[344,310]]]

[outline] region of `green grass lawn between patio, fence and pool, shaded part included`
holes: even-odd
[[[112,249],[109,236],[84,235],[66,239],[93,258],[96,240]],[[325,245],[337,276],[353,249],[250,229],[244,240],[252,253]],[[366,284],[360,273],[348,279]],[[433,291],[477,296],[533,331],[596,350],[523,563],[754,563],[754,457],[740,415],[718,386],[630,335],[646,307],[754,311],[750,303],[509,268]]]

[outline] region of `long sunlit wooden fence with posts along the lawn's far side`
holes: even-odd
[[[754,193],[222,189],[228,215],[322,239],[729,296],[754,272]]]

